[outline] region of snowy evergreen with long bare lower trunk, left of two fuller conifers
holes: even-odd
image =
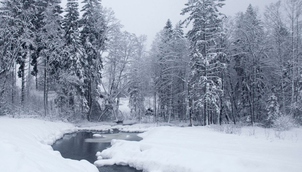
[[[41,42],[37,46],[41,48],[40,58],[43,63],[43,83],[44,83],[44,116],[48,111],[48,91],[49,81],[56,80],[63,68],[64,54],[67,52],[65,47],[64,30],[62,28],[63,11],[56,1],[43,12],[43,27],[41,27],[38,37]]]

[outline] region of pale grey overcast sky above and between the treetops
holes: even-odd
[[[261,14],[265,5],[278,0],[226,0],[226,5],[219,10],[233,16],[239,11],[245,11],[249,4],[258,6]],[[67,0],[62,0],[62,7],[65,8]],[[79,8],[82,8],[79,0]],[[180,15],[181,10],[188,0],[102,0],[102,5],[110,7],[114,10],[115,16],[124,25],[124,30],[135,33],[137,36],[141,34],[147,35],[148,46],[157,32],[165,26],[168,18],[175,25],[179,20],[184,20],[185,16]],[[185,32],[188,31],[184,29]]]

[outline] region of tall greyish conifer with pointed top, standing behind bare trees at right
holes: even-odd
[[[265,87],[263,69],[265,51],[267,50],[263,23],[258,11],[249,5],[245,13],[237,14],[235,46],[235,69],[241,80],[236,84],[241,94],[241,111],[247,121],[254,124],[260,118],[259,111],[264,104],[262,92]]]

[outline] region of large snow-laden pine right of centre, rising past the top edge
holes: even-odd
[[[203,108],[203,124],[208,125],[210,114],[219,113],[219,99],[223,95],[219,68],[223,65],[219,56],[216,39],[222,29],[220,23],[224,17],[218,11],[223,0],[189,0],[188,7],[181,14],[189,13],[185,22],[193,22],[193,28],[188,32],[191,41],[191,86],[194,99],[199,110]],[[218,117],[218,119],[220,119]]]

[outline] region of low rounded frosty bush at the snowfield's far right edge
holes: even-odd
[[[279,114],[273,116],[271,127],[277,131],[286,131],[296,127],[296,125],[295,120],[291,116]]]

